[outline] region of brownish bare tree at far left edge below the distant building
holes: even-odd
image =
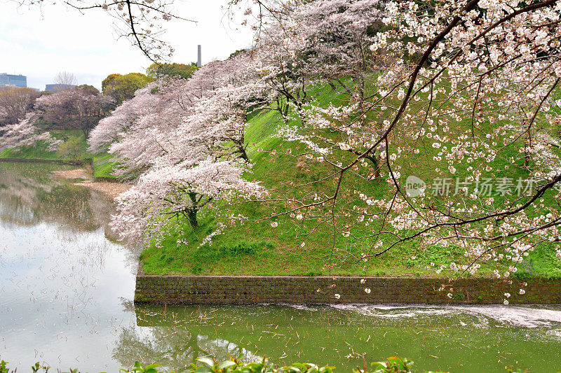
[[[6,87],[0,90],[0,130],[23,120],[37,97],[39,92],[30,88]]]

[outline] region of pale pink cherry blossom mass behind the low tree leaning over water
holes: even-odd
[[[90,148],[109,150],[121,163],[116,174],[133,178],[158,157],[182,160],[187,155],[173,155],[177,153],[171,150],[181,144],[185,149],[205,143],[205,154],[222,157],[228,152],[219,148],[233,143],[232,153],[248,160],[243,141],[245,110],[266,101],[268,92],[256,82],[257,74],[249,71],[250,57],[238,55],[203,66],[190,80],[151,83],[100,122],[90,136]]]

